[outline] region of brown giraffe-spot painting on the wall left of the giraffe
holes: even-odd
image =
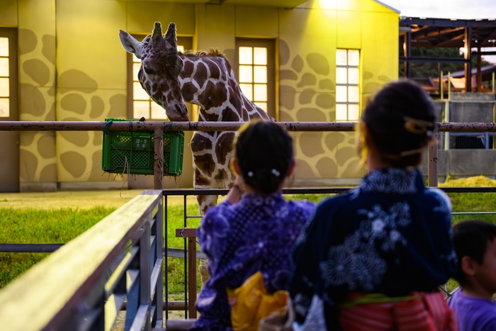
[[[69,69],[60,73],[57,84],[78,82],[84,88],[59,88],[55,111],[55,36],[19,30],[21,64],[21,120],[104,120],[125,117],[124,94],[106,95],[86,73]],[[57,143],[56,143],[57,141]],[[21,190],[47,190],[33,183],[57,181],[107,181],[101,172],[102,133],[60,131],[21,134]],[[56,147],[57,146],[57,147]],[[57,167],[57,159],[59,159]],[[57,174],[58,172],[58,174]],[[111,180],[114,180],[112,176]],[[115,180],[122,181],[117,177]],[[56,186],[50,187],[55,190]]]

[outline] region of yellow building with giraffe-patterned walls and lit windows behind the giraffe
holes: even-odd
[[[245,94],[281,121],[357,120],[366,98],[398,77],[398,11],[373,0],[2,0],[0,120],[163,120],[133,91],[133,57],[118,38],[119,29],[143,38],[154,21],[164,30],[176,23],[185,50],[224,52]],[[243,62],[242,52],[260,49],[266,60]],[[243,74],[257,65],[266,81]],[[363,175],[353,133],[293,136],[295,186]],[[150,176],[124,183],[103,174],[101,132],[0,132],[0,140],[0,191],[152,186]],[[192,186],[187,145],[184,174],[165,184]]]

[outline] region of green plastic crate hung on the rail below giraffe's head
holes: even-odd
[[[106,122],[130,122],[106,118]],[[184,131],[164,133],[164,176],[183,172]],[[128,162],[126,164],[126,161]],[[101,169],[114,174],[153,174],[154,134],[103,131]]]

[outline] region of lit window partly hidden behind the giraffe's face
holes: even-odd
[[[179,52],[184,52],[184,46],[177,45],[177,50]],[[140,80],[137,78],[137,73],[140,71],[140,67],[141,60],[133,54],[133,118],[140,119],[144,117],[147,120],[167,120],[167,115],[165,114],[164,108],[155,103],[147,94],[145,89],[141,87]]]

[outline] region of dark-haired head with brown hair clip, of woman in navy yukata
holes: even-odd
[[[416,167],[432,139],[434,106],[414,82],[386,85],[367,104],[361,116],[362,152],[373,149],[391,167]]]

